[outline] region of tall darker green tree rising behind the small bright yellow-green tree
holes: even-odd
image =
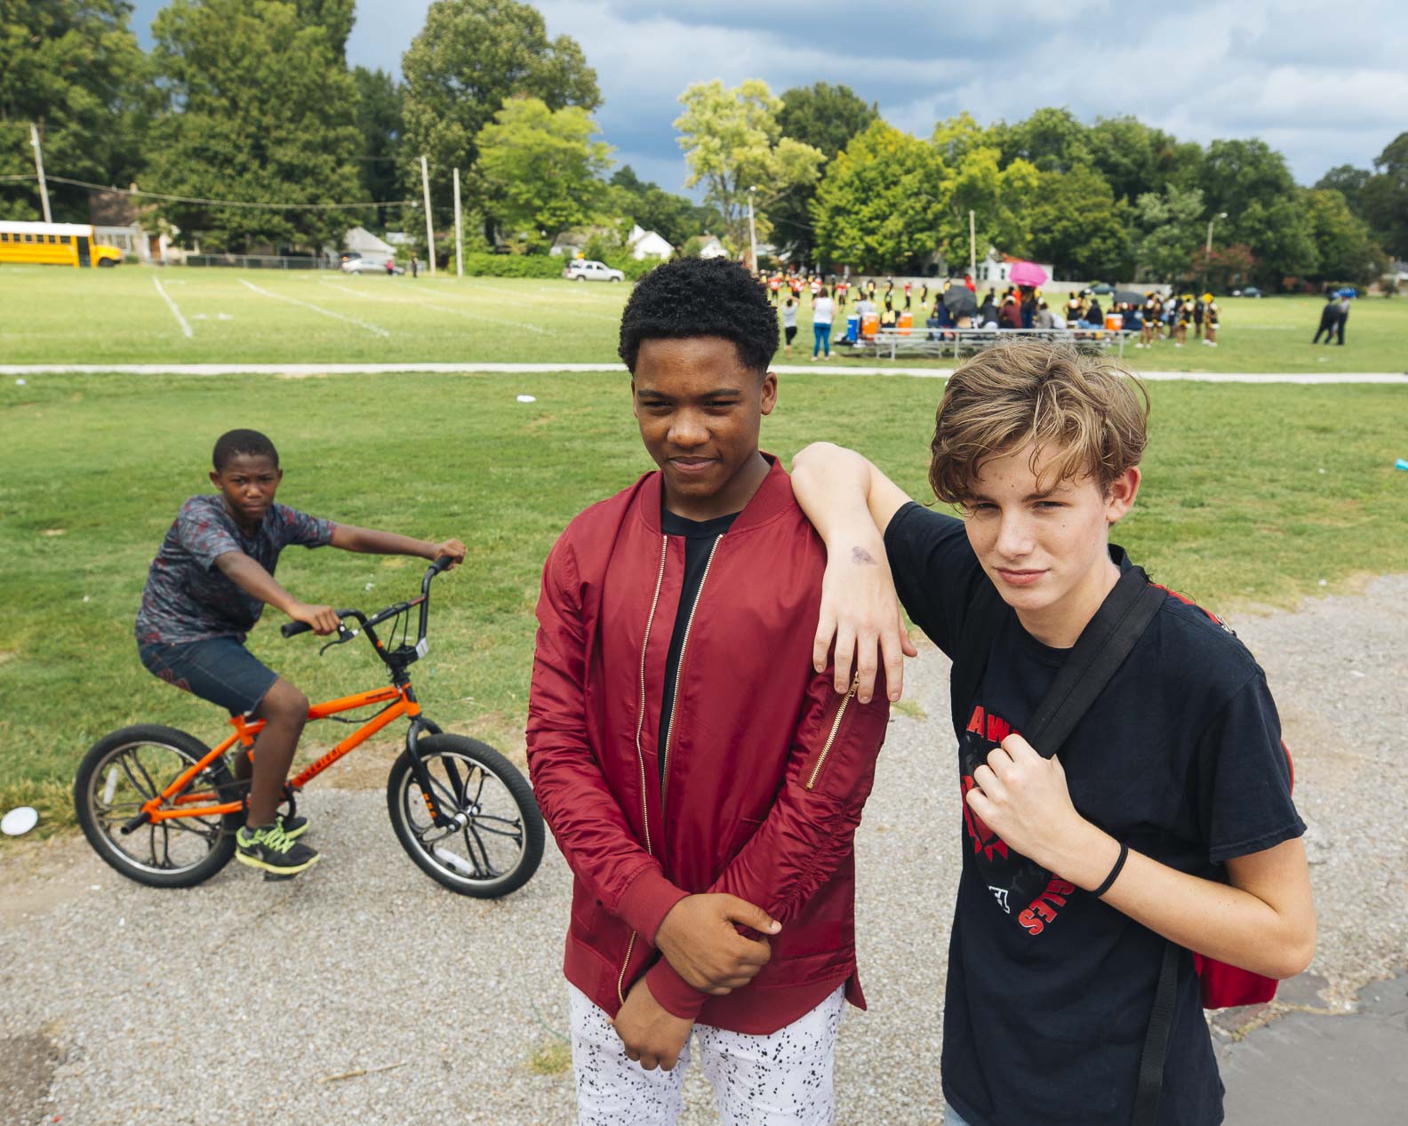
[[[504,99],[536,97],[549,110],[577,106],[589,113],[601,104],[597,75],[577,42],[567,35],[549,39],[542,13],[517,0],[435,0],[401,56],[401,75],[403,183],[421,198],[424,155],[434,169],[431,207],[438,218],[448,218],[452,207],[451,169],[458,167],[476,194],[474,141]]]

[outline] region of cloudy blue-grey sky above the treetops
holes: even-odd
[[[151,44],[165,0],[135,0]],[[400,73],[429,0],[359,0],[352,65]],[[545,0],[549,35],[582,44],[618,163],[681,190],[670,122],[691,82],[762,77],[774,93],[843,83],[891,124],[928,135],[969,110],[1017,121],[1039,106],[1077,117],[1135,114],[1181,139],[1262,137],[1314,183],[1369,167],[1408,129],[1408,21],[1401,0],[870,4],[848,0]],[[1000,14],[997,14],[1000,13]]]

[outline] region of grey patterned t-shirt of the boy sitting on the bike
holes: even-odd
[[[265,604],[245,594],[217,567],[217,556],[244,552],[273,574],[290,543],[321,548],[332,542],[332,521],[270,504],[253,536],[246,536],[217,495],[191,497],[180,507],[146,573],[137,643],[179,645],[207,638],[244,640]]]

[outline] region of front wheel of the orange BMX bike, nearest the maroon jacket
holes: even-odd
[[[415,745],[442,812],[463,826],[431,821],[411,753],[391,766],[386,806],[401,847],[436,883],[494,899],[527,884],[542,860],[542,814],[528,780],[503,754],[462,735],[427,735]]]

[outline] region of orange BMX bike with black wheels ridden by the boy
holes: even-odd
[[[425,656],[431,580],[451,563],[436,559],[421,595],[367,616],[339,609],[345,624],[322,652],[359,633],[386,664],[391,683],[308,708],[308,719],[358,723],[346,739],[284,784],[291,815],[297,794],[338,759],[403,716],[406,749],[391,766],[386,806],[391,828],[411,860],[451,891],[497,898],[522,887],[542,860],[542,814],[524,776],[493,747],[445,735],[421,714],[410,666]],[[410,643],[410,611],[420,631]],[[390,622],[383,642],[376,628]],[[310,632],[287,622],[284,638]],[[376,708],[372,715],[341,712]],[[83,757],[73,805],[89,843],[122,875],[141,884],[184,888],[208,880],[235,854],[235,830],[245,821],[248,780],[237,781],[235,757],[258,753],[262,719],[231,718],[234,732],[214,749],[173,728],[139,725],[103,736]]]

